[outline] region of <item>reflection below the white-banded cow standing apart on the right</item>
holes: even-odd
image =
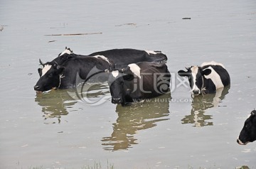
[[[218,104],[228,94],[230,86],[216,90],[215,94],[199,95],[193,98],[191,115],[185,116],[181,121],[182,124],[194,124],[194,126],[212,126],[211,115],[204,114],[206,109],[218,107]]]

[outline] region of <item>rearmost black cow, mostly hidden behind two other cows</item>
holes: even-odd
[[[78,55],[73,53],[70,48],[65,48],[65,50],[58,55],[52,62],[57,62],[61,65],[65,60],[75,57],[101,57],[106,58],[111,62],[112,65],[129,65],[134,62],[166,62],[167,57],[161,51],[154,50],[137,50],[137,49],[112,49],[105,50],[96,53],[91,53],[90,55]]]

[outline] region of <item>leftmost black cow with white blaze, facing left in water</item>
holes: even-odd
[[[107,59],[89,56],[69,58],[62,65],[58,65],[58,62],[41,62],[41,65],[43,68],[38,69],[40,78],[34,86],[36,92],[76,87],[78,80],[86,80],[89,73],[112,68]]]

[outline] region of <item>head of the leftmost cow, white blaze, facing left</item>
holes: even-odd
[[[39,80],[34,86],[36,92],[44,92],[60,86],[61,74],[64,67],[58,66],[57,63],[46,62],[43,63],[39,60],[43,68],[38,68]]]

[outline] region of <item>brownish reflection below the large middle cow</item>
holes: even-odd
[[[117,151],[131,148],[137,144],[134,134],[139,130],[156,126],[159,121],[168,120],[169,101],[171,94],[146,100],[143,104],[133,104],[129,107],[117,105],[117,122],[113,124],[111,136],[102,138],[102,145],[107,151]]]

